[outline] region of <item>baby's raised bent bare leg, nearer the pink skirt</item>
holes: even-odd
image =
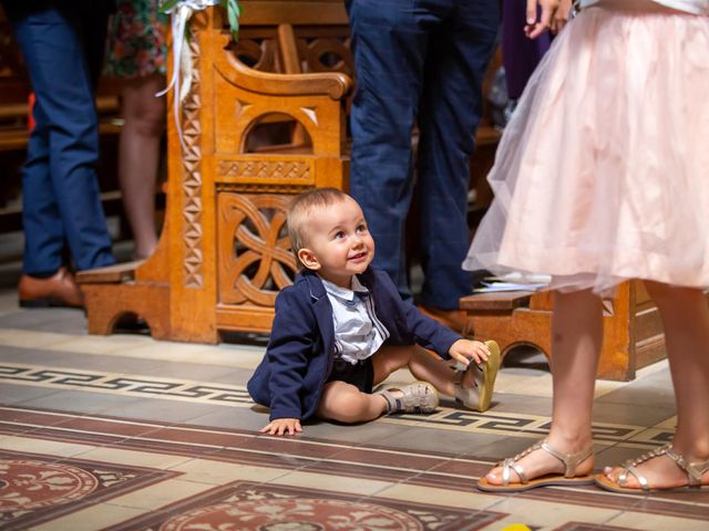
[[[455,396],[455,372],[443,360],[436,360],[419,345],[384,346],[373,356],[374,385],[381,384],[391,373],[409,367],[418,379],[429,382],[441,393]]]

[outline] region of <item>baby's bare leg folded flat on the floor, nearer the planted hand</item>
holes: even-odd
[[[367,394],[345,382],[330,382],[322,389],[317,415],[340,423],[366,423],[387,410],[387,400],[379,394]]]

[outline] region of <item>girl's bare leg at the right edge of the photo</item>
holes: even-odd
[[[672,448],[690,462],[709,459],[709,305],[701,290],[645,283],[662,317],[677,400]],[[687,475],[667,456],[637,466],[653,488],[684,487]],[[610,473],[617,481],[619,469]],[[705,473],[703,483],[709,483]],[[638,488],[628,475],[627,487]]]

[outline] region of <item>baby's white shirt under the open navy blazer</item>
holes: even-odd
[[[367,360],[389,337],[389,331],[377,319],[369,290],[357,277],[352,277],[351,290],[327,280],[322,280],[322,285],[332,305],[338,356],[352,365]]]

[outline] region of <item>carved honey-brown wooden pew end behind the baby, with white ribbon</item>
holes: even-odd
[[[276,295],[296,272],[285,230],[290,198],[348,186],[353,81],[343,2],[240,6],[236,46],[220,9],[189,22],[196,75],[182,106],[185,148],[168,116],[165,228],[146,261],[79,275],[90,333],[111,333],[125,314],[176,341],[268,333]],[[285,140],[265,145],[260,134],[284,124]],[[490,129],[479,137],[494,145]]]

